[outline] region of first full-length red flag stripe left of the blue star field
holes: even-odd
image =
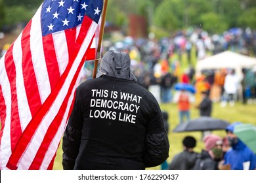
[[[22,71],[24,77],[24,85],[30,106],[32,117],[35,115],[41,104],[37,80],[33,69],[32,54],[30,50],[30,29],[32,21],[24,28],[22,32]],[[37,73],[39,74],[39,73]]]

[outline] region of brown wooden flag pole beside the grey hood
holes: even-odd
[[[108,0],[104,0],[102,16],[101,16],[102,20],[100,23],[100,34],[98,36],[98,47],[96,50],[95,67],[93,68],[93,78],[96,78],[96,72],[98,69],[98,60],[100,59],[100,50],[101,50],[101,44],[102,44],[102,39],[103,39],[104,27],[105,27],[107,6],[108,6]]]

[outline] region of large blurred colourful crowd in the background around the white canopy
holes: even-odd
[[[256,103],[256,68],[244,69],[244,78],[237,78],[229,68],[205,70],[200,75],[195,72],[197,61],[225,50],[256,56],[256,32],[249,28],[233,28],[221,35],[209,35],[202,29],[187,29],[161,40],[154,39],[154,36],[150,39],[124,37],[116,42],[105,40],[102,54],[108,50],[129,53],[131,69],[139,84],[154,93],[161,103],[172,102],[173,86],[177,82],[192,84],[196,88],[196,103],[200,102],[202,91],[206,91],[213,101],[223,101],[223,107],[228,102],[234,105],[238,100]],[[85,63],[83,80],[91,78],[93,67],[94,61]],[[232,91],[228,90],[230,86]]]

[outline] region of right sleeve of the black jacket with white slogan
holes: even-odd
[[[169,140],[163,124],[159,105],[156,105],[146,128],[144,164],[146,167],[161,165],[169,157]]]

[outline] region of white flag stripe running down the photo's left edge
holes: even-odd
[[[6,106],[5,128],[3,129],[0,147],[1,169],[5,170],[8,169],[6,165],[11,156],[11,86],[5,70],[5,55],[0,60],[0,84]]]

